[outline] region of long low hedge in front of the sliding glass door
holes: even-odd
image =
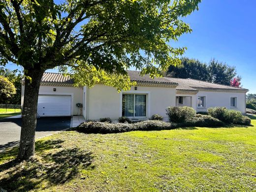
[[[134,124],[111,124],[107,122],[84,122],[76,127],[76,131],[83,133],[119,133],[132,130],[168,130],[177,128],[177,124],[158,120],[148,120]]]

